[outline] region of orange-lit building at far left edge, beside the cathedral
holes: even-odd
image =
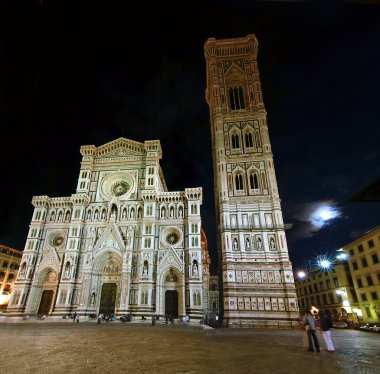
[[[21,251],[0,244],[0,310],[8,305],[21,257]]]

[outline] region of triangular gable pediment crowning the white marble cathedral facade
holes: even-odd
[[[97,158],[143,156],[145,145],[127,138],[118,138],[96,148]]]

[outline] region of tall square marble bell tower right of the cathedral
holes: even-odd
[[[255,35],[204,46],[224,326],[291,327],[299,310]]]

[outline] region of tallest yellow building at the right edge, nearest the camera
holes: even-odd
[[[357,299],[359,319],[380,322],[380,226],[343,247]]]

